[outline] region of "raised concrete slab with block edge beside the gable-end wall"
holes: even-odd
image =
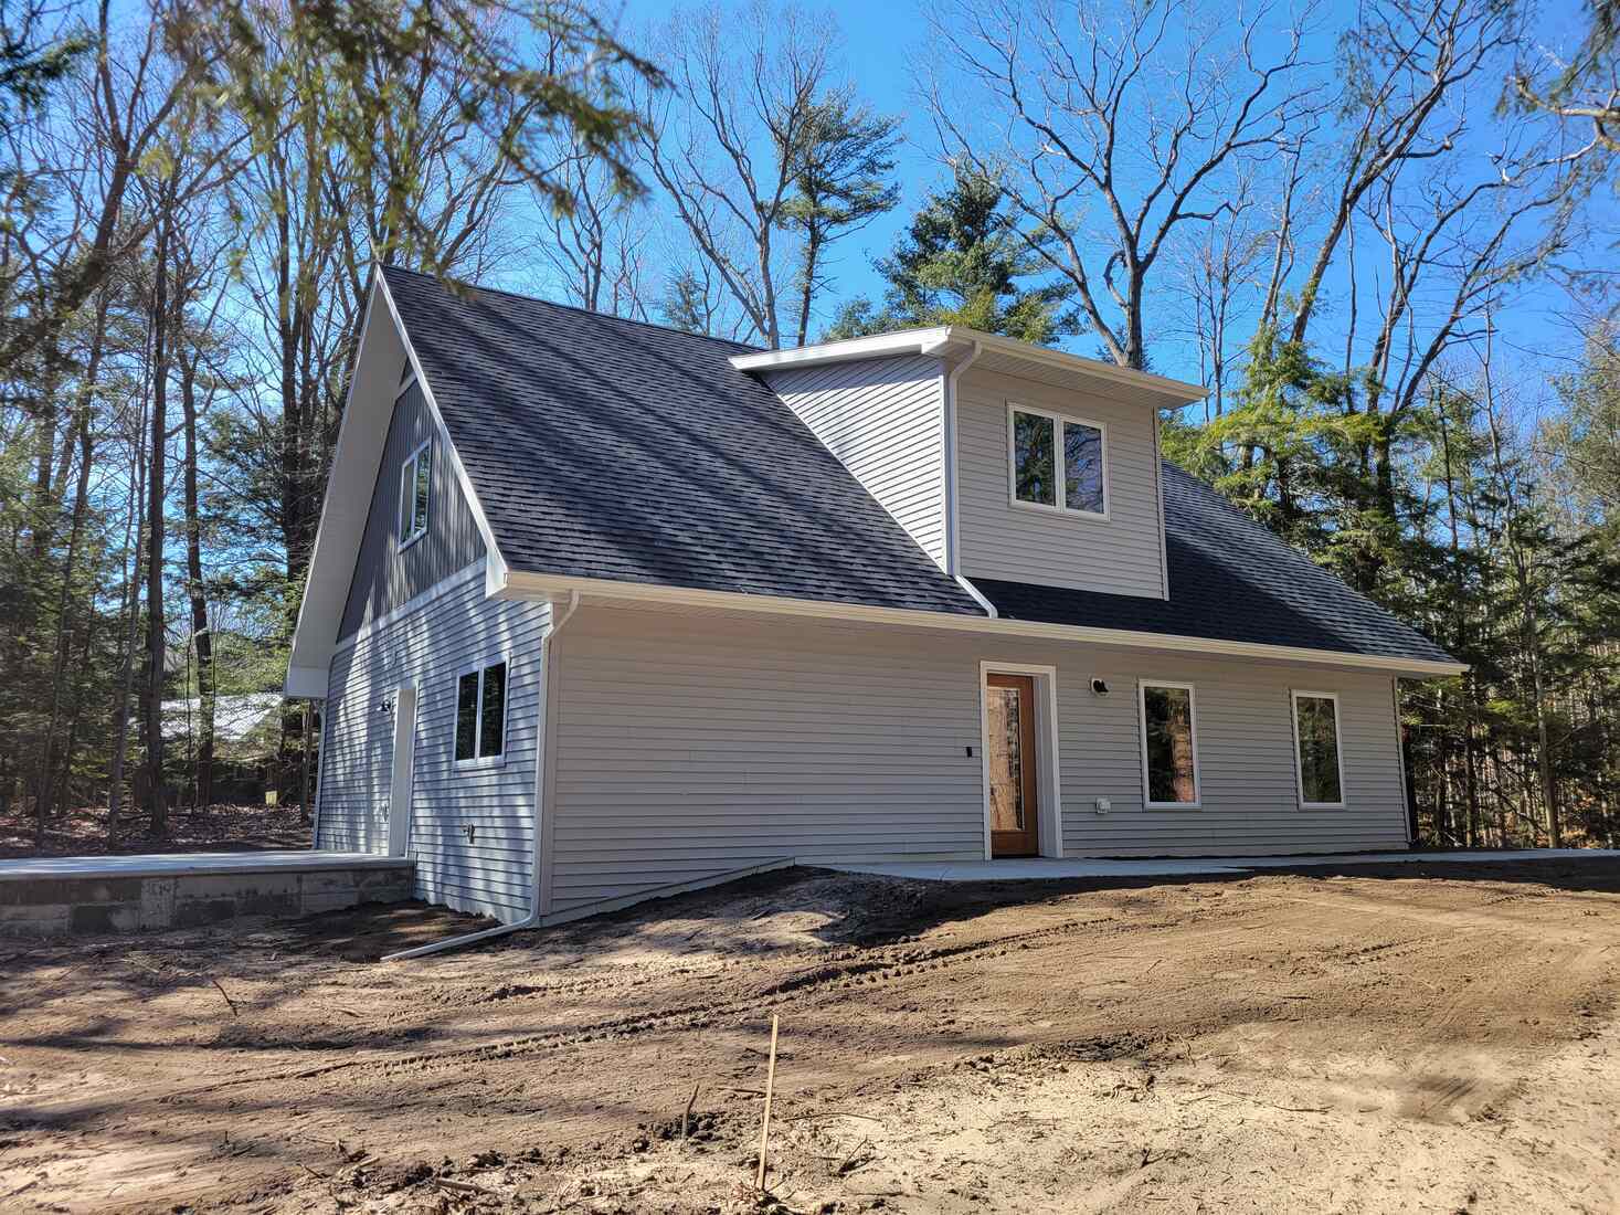
[[[175,852],[0,860],[0,936],[188,928],[411,896],[415,862],[369,852]]]

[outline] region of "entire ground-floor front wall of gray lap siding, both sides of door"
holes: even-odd
[[[1382,674],[595,606],[561,650],[554,912],[778,857],[982,859],[982,659],[1058,667],[1066,855],[1406,844]],[[1139,677],[1197,685],[1202,810],[1142,807]],[[1298,808],[1291,687],[1340,692],[1343,810]]]

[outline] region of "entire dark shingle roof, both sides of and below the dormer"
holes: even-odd
[[[389,292],[514,570],[982,616],[752,347],[395,267]],[[1165,463],[1170,599],[975,578],[1017,620],[1448,656]]]

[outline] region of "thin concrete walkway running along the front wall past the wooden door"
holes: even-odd
[[[876,873],[889,878],[920,878],[923,881],[1051,881],[1055,878],[1132,878],[1132,876],[1192,876],[1210,873],[1249,873],[1262,868],[1311,868],[1340,865],[1392,865],[1403,862],[1424,863],[1477,863],[1481,860],[1557,860],[1560,857],[1620,857],[1620,850],[1583,847],[1542,849],[1456,849],[1447,852],[1336,852],[1307,857],[1157,857],[1157,859],[1056,859],[1029,857],[1017,860],[949,860],[906,862],[872,865],[826,865],[842,873]]]

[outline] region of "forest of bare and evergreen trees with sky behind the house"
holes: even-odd
[[[0,820],[303,799],[264,697],[381,259],[1199,376],[1166,454],[1471,664],[1403,684],[1426,841],[1620,842],[1620,5],[920,13],[889,113],[768,0],[0,0]]]

